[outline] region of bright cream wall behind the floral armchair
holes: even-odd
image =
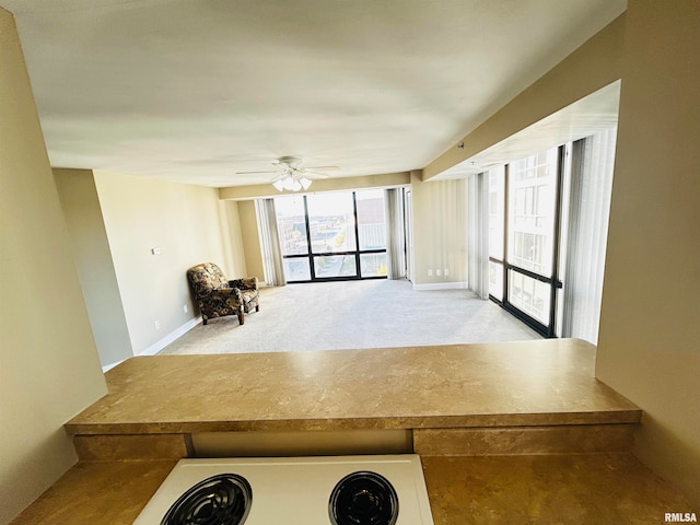
[[[197,317],[187,268],[213,261],[229,273],[218,191],[103,171],[94,175],[131,348],[140,354]]]

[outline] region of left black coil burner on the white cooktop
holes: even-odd
[[[250,483],[244,477],[220,474],[180,495],[161,525],[242,525],[252,501]]]

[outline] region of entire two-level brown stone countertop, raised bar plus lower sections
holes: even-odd
[[[348,429],[412,435],[436,525],[692,512],[629,453],[641,411],[594,365],[572,339],[133,358],[68,422],[81,462],[12,525],[130,524],[196,432]]]

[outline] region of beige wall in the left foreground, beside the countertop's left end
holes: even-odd
[[[0,9],[0,524],[71,465],[106,393],[13,18]]]

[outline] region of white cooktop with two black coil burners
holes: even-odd
[[[182,459],[135,525],[433,525],[420,457]]]

